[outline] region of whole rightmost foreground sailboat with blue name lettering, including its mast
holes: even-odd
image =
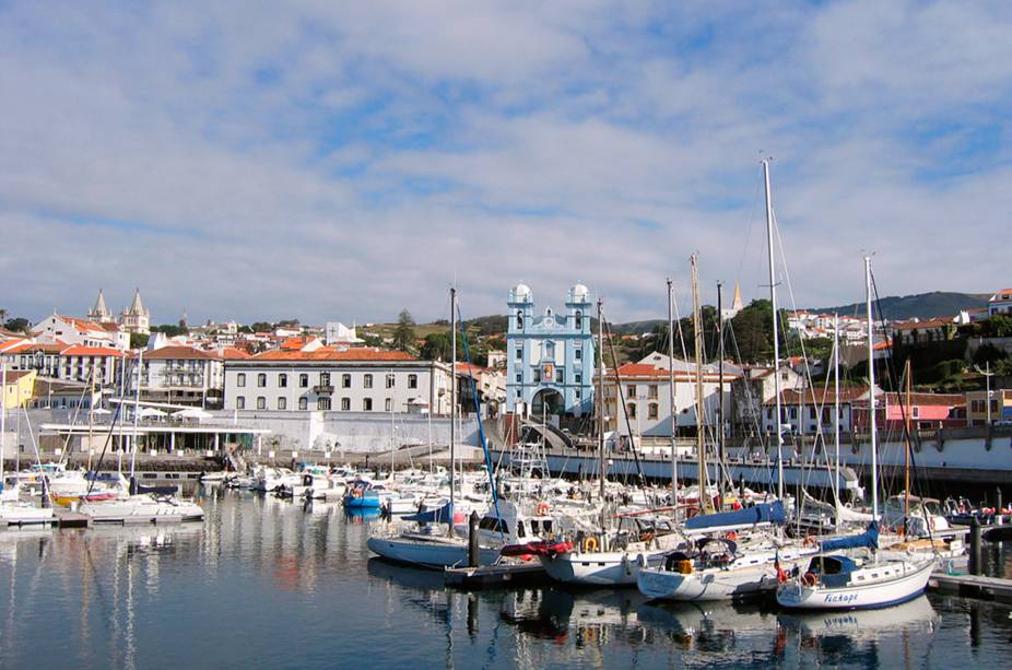
[[[875,425],[874,320],[871,309],[871,258],[864,257],[868,314],[868,415],[871,438],[871,499],[873,520],[859,536],[820,543],[804,573],[777,588],[780,606],[801,610],[884,608],[917,598],[935,566],[934,555],[883,559],[879,549],[879,473]],[[836,553],[852,550],[850,553]],[[857,550],[862,553],[858,554]]]

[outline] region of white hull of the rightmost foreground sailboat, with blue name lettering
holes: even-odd
[[[885,608],[917,598],[925,591],[934,561],[905,562],[904,574],[887,581],[829,587],[784,584],[777,589],[777,602],[799,610],[861,610]]]

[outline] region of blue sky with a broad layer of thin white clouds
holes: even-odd
[[[0,307],[611,320],[1012,284],[1007,2],[0,0]]]

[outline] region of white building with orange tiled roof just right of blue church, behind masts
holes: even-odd
[[[620,435],[670,436],[672,431],[671,392],[669,384],[668,356],[652,353],[638,363],[626,363],[619,367],[619,386],[615,374],[604,378],[605,416],[609,430]],[[723,408],[731,416],[731,385],[741,376],[741,371],[726,365],[723,373]],[[705,425],[717,422],[720,405],[720,375],[716,365],[703,367],[703,404]],[[616,404],[621,395],[625,409]],[[626,415],[628,422],[626,422]],[[674,427],[692,432],[696,426],[696,366],[675,358],[674,361]],[[632,428],[632,431],[631,431]]]

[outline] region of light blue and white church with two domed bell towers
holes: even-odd
[[[509,292],[506,331],[506,411],[525,416],[583,416],[593,411],[593,333],[590,292],[577,283],[566,310],[534,316],[530,287]]]

